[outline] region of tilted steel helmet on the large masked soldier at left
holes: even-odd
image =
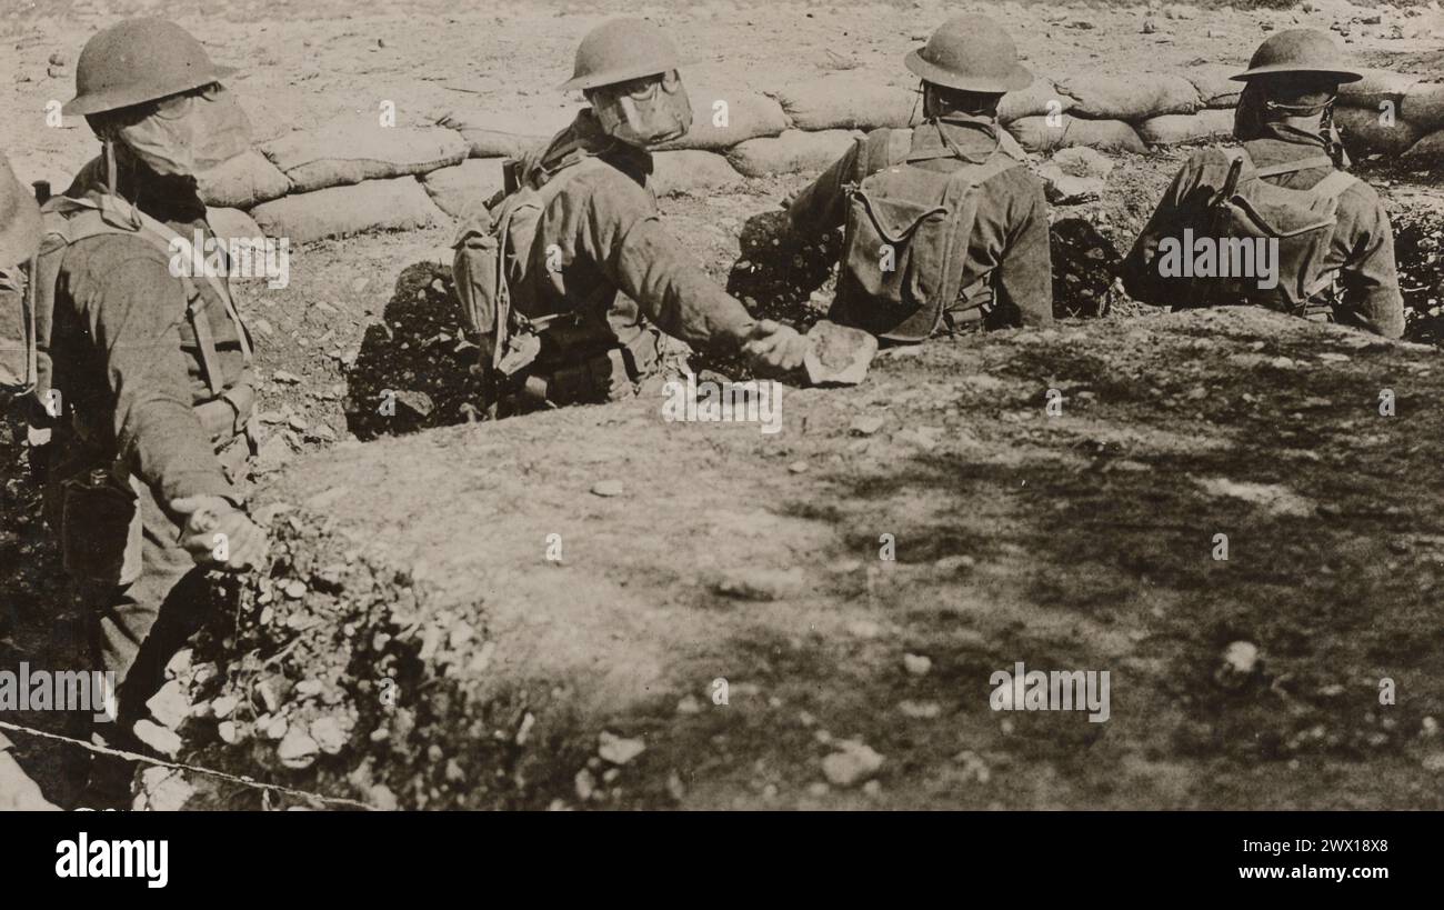
[[[97,32],[75,64],[69,117],[100,114],[209,85],[235,72],[217,66],[189,32],[165,19],[126,19]]]

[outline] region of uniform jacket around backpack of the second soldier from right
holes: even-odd
[[[788,207],[794,231],[817,234],[843,224],[849,185],[914,159],[918,168],[950,172],[998,149],[991,117],[953,113],[914,130],[874,130],[799,194]],[[946,140],[944,136],[946,134]],[[882,155],[871,155],[879,149]],[[998,155],[1006,155],[998,152]],[[927,156],[926,160],[917,160]],[[1025,168],[996,173],[973,191],[980,195],[967,241],[962,293],[944,309],[953,326],[1041,325],[1053,321],[1053,263],[1048,259],[1048,205],[1043,183]],[[849,313],[832,313],[845,325]]]

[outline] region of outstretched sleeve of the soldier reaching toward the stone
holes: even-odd
[[[755,321],[689,261],[644,192],[630,182],[598,182],[579,224],[578,250],[661,331],[687,344],[736,350]]]

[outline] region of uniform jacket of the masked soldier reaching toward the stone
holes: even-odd
[[[651,155],[602,133],[591,108],[514,165],[543,199],[530,247],[511,253],[511,308],[544,326],[517,378],[554,404],[631,394],[680,361],[686,348],[671,339],[731,348],[755,322],[661,225],[650,175]],[[494,319],[479,315],[477,331],[490,334]]]

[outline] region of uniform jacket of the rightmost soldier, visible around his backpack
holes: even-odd
[[[1272,136],[1243,143],[1258,168],[1317,157],[1323,150],[1323,143],[1313,137],[1295,136],[1287,129],[1271,131]],[[1227,172],[1229,157],[1217,149],[1199,150],[1188,159],[1123,260],[1128,293],[1158,306],[1184,303],[1183,282],[1155,274],[1149,263],[1164,237],[1178,237],[1184,227],[1199,224],[1199,214],[1223,186]],[[1308,189],[1330,172],[1331,168],[1307,168],[1261,179],[1289,189]],[[1279,267],[1287,269],[1288,263]],[[1386,338],[1404,334],[1393,230],[1379,194],[1363,181],[1356,181],[1339,196],[1337,225],[1324,267],[1339,274],[1339,292],[1326,300],[1334,321]]]

